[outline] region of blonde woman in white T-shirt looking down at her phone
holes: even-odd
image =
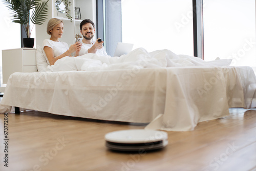
[[[76,42],[70,47],[66,42],[59,41],[64,31],[64,25],[61,19],[52,18],[47,25],[47,33],[51,35],[50,39],[45,39],[42,42],[42,47],[46,53],[49,64],[54,63],[65,56],[70,56],[75,52],[75,56],[79,55],[81,50],[81,42]]]

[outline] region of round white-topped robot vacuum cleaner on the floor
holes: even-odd
[[[114,151],[151,151],[168,144],[168,135],[154,130],[122,130],[105,135],[105,145]]]

